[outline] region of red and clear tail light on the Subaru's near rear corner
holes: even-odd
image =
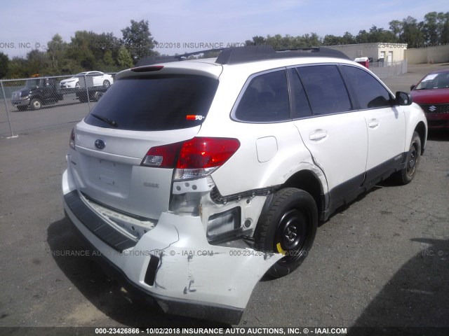
[[[237,139],[196,137],[150,148],[142,165],[175,168],[175,180],[197,179],[222,166],[239,147]]]

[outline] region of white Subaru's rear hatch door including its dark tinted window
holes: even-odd
[[[117,80],[76,126],[77,188],[98,204],[158,219],[168,210],[173,168],[146,167],[142,160],[149,148],[195,137],[217,84],[192,74]]]

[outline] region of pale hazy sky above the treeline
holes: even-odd
[[[173,55],[201,50],[192,43],[227,46],[256,35],[356,35],[372,25],[389,29],[388,22],[408,15],[421,21],[431,11],[449,11],[449,1],[1,0],[0,52],[25,56],[36,46],[46,50],[55,34],[70,42],[77,30],[112,32],[121,38],[130,20],[148,20],[152,36],[165,47],[156,50]],[[180,48],[170,48],[170,43]]]

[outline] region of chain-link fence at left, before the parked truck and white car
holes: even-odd
[[[0,137],[83,119],[111,85],[115,73],[0,80]]]

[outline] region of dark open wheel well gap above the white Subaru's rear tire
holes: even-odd
[[[323,213],[325,207],[322,197],[323,189],[318,177],[313,172],[309,170],[297,172],[284,183],[283,187],[307,191],[311,197],[314,197],[319,216]]]

